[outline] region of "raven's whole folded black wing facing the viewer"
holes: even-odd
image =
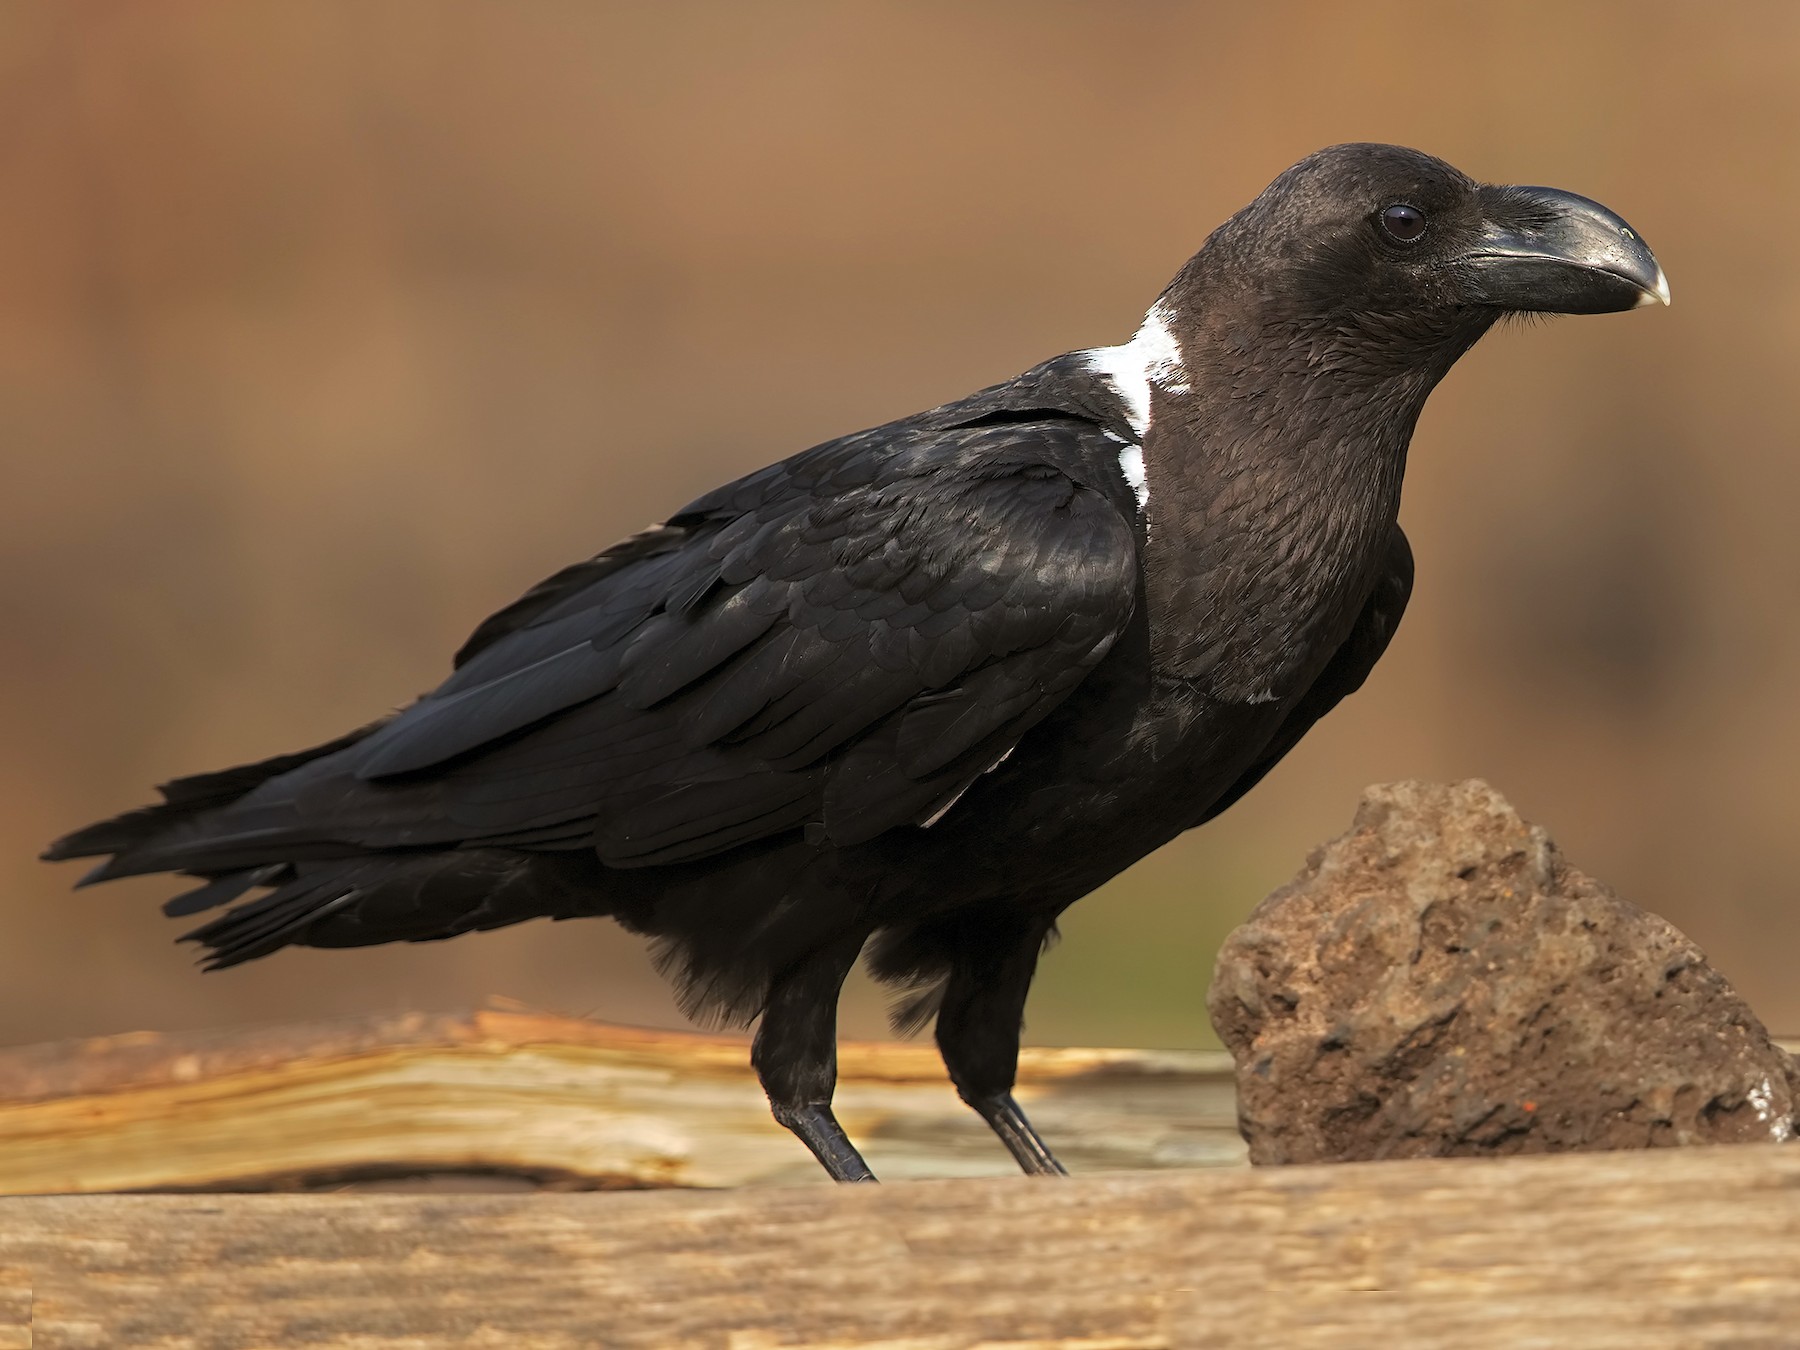
[[[754,473],[533,589],[346,749],[106,871],[468,844],[646,866],[927,823],[1127,625],[1112,452],[1080,416],[927,414]]]

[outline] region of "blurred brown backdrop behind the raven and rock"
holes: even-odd
[[[1606,202],[1674,308],[1449,378],[1370,688],[1071,911],[1028,1035],[1210,1044],[1217,941],[1408,776],[1489,778],[1800,1031],[1796,70],[1787,0],[0,7],[0,1042],[675,1022],[607,923],[200,977],[167,884],[34,853],[407,700],[725,477],[1127,337],[1355,139]]]

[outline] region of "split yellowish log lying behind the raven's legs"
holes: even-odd
[[[880,1175],[1013,1172],[932,1046],[846,1044],[841,1075],[839,1116]],[[1076,1170],[1244,1159],[1220,1053],[1028,1049],[1019,1096]],[[0,1051],[0,1193],[432,1174],[824,1184],[738,1037],[488,1010]]]

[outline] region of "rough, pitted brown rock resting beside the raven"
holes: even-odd
[[[1210,1006],[1255,1163],[1795,1132],[1800,1073],[1705,954],[1481,781],[1370,788]]]

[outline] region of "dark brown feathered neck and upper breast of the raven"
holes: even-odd
[[[1183,371],[1152,385],[1143,437],[1152,662],[1217,698],[1289,702],[1348,635],[1426,396],[1489,320],[1399,362],[1370,320],[1163,313]]]

